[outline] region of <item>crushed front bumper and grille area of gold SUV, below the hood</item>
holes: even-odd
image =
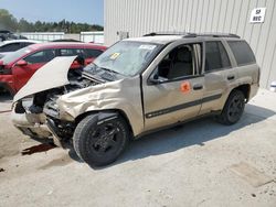
[[[74,121],[59,119],[55,100],[64,90],[55,88],[23,98],[14,105],[13,124],[24,134],[35,140],[54,140],[57,145],[65,142],[74,132]]]

